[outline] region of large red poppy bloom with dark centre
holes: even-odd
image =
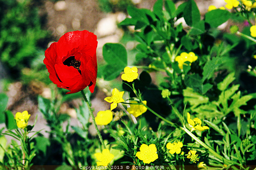
[[[45,51],[49,78],[59,88],[77,93],[87,86],[93,93],[97,77],[97,36],[89,31],[72,31],[61,36]]]

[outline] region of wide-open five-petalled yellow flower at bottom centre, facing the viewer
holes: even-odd
[[[155,144],[150,144],[147,146],[146,144],[142,144],[140,146],[140,151],[136,153],[139,160],[142,160],[144,163],[151,163],[158,159],[157,149]]]

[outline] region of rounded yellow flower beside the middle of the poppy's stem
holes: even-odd
[[[110,110],[100,111],[95,117],[95,122],[97,125],[107,125],[113,119],[113,113]]]

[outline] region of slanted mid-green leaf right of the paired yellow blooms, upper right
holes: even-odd
[[[212,60],[207,61],[205,66],[203,67],[203,78],[202,81],[204,82],[205,79],[210,79],[214,73],[214,71],[222,64],[221,58],[213,57]]]

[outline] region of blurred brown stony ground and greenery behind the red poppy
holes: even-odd
[[[88,30],[98,37],[97,58],[99,65],[96,91],[92,95],[92,107],[96,114],[109,109],[103,99],[109,95],[111,84],[120,78],[107,82],[101,78],[100,65],[104,64],[102,46],[105,43],[122,43],[128,50],[128,64],[132,65],[136,54],[136,41],[132,37],[133,27],[122,28],[117,24],[127,17],[128,5],[152,9],[156,0],[0,0],[0,93],[7,94],[7,109],[13,114],[27,110],[38,115],[35,131],[45,128],[46,122],[37,107],[38,95],[64,98],[60,113],[67,113],[77,124],[76,107],[81,104],[80,93],[65,95],[49,79],[43,64],[44,51],[69,31]],[[181,4],[175,1],[177,6]],[[224,0],[196,1],[201,14],[209,5],[217,7]],[[182,22],[182,21],[181,21]],[[154,76],[153,76],[154,77]],[[154,81],[153,81],[154,82]],[[118,83],[115,84],[115,87]],[[56,92],[58,91],[58,93]],[[1,127],[5,125],[2,123]],[[92,132],[93,133],[93,132]]]

